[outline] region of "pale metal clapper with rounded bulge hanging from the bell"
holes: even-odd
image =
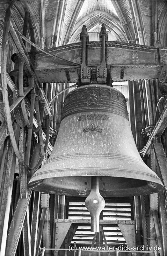
[[[85,200],[85,206],[91,214],[91,231],[92,232],[100,232],[99,231],[99,216],[100,212],[105,207],[105,200],[100,195],[98,189],[98,177],[91,176],[91,193],[87,196]]]

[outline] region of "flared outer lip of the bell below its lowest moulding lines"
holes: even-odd
[[[146,166],[147,167],[147,166]],[[147,167],[149,169],[149,167]],[[40,169],[39,169],[40,170]],[[136,170],[127,170],[127,169],[119,169],[119,168],[108,168],[106,170],[106,168],[100,168],[99,170],[97,170],[97,168],[73,168],[73,170],[71,171],[69,170],[62,170],[62,171],[56,171],[55,170],[46,170],[45,172],[42,173],[34,173],[33,177],[31,178],[31,180],[28,183],[28,186],[31,188],[34,188],[36,190],[36,188],[42,189],[42,187],[40,186],[41,182],[43,182],[44,180],[49,181],[52,180],[52,182],[50,183],[50,186],[52,183],[57,183],[58,185],[59,183],[62,183],[62,180],[70,180],[70,179],[90,179],[91,176],[98,176],[99,178],[101,177],[102,179],[110,179],[110,180],[137,180],[137,181],[142,181],[142,182],[146,182],[146,183],[151,183],[151,184],[155,184],[154,186],[159,186],[158,191],[162,190],[164,188],[162,181],[160,180],[160,178],[156,175],[155,172],[152,171],[152,173],[148,173],[148,172],[142,172],[140,171],[140,173],[136,172]],[[46,178],[47,177],[47,178]],[[55,181],[55,182],[54,182]],[[34,186],[35,185],[35,186]],[[133,187],[133,185],[131,184],[131,186]],[[73,189],[75,188],[75,184]],[[137,187],[136,187],[137,188]],[[121,189],[121,188],[120,188]],[[38,189],[37,189],[38,190]],[[42,192],[42,190],[39,190]],[[155,191],[153,189],[153,193],[156,193],[157,191]],[[142,195],[142,194],[140,194]]]

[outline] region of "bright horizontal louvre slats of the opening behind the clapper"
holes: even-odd
[[[69,202],[69,219],[90,220],[91,216],[84,202]],[[101,214],[102,220],[132,220],[130,203],[105,203]],[[103,225],[107,244],[127,244],[118,225]],[[90,224],[79,224],[71,243],[92,244],[94,232],[91,232]],[[102,240],[101,240],[102,241]],[[104,244],[104,239],[103,239]],[[96,245],[96,244],[95,244]]]

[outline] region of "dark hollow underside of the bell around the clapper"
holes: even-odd
[[[161,184],[147,180],[136,180],[124,177],[110,178],[111,179],[107,176],[99,177],[99,192],[103,197],[148,195],[159,192],[163,189]],[[71,181],[72,183],[70,183]],[[80,184],[77,186],[79,182]],[[88,196],[91,191],[91,177],[75,176],[46,178],[36,180],[34,183],[31,182],[29,186],[34,190],[44,193],[65,196]]]

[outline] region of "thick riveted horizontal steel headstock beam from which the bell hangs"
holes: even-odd
[[[86,65],[88,67],[97,68],[100,66],[101,44],[101,42],[86,42]],[[162,67],[166,70],[166,60],[160,63],[159,59],[163,58],[163,56],[159,58],[159,54],[164,55],[164,52],[167,52],[167,48],[163,47],[162,51],[159,52],[157,47],[109,41],[105,43],[105,48],[107,53],[105,58],[107,74],[111,75],[114,82],[156,79],[162,75]],[[78,67],[72,64],[64,64],[61,60],[56,60],[56,58],[44,52],[36,52],[34,68],[39,81],[45,83],[69,83],[66,76],[66,72],[69,72],[70,82],[76,83],[79,77],[78,74],[81,71],[82,44],[68,44],[49,49],[47,52],[68,61],[72,60],[75,65],[78,64]],[[120,75],[121,71],[124,74],[123,76]],[[163,80],[165,79],[166,75],[163,77]]]

